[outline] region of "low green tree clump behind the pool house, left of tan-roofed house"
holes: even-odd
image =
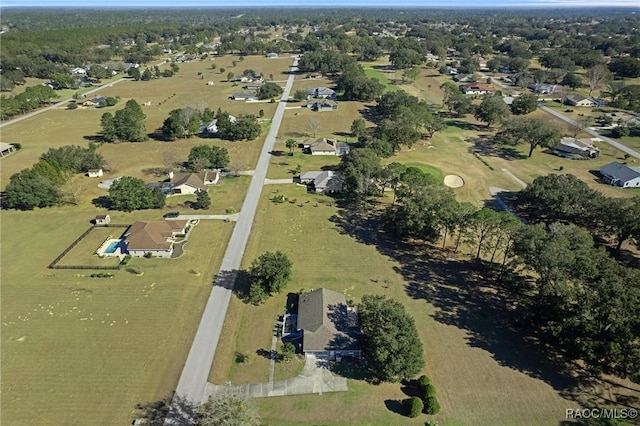
[[[113,210],[161,209],[166,197],[159,187],[151,188],[142,179],[123,176],[109,188],[109,207]]]

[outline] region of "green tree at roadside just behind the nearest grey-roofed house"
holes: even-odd
[[[247,300],[258,305],[284,290],[291,280],[291,266],[289,257],[280,250],[261,254],[249,267]]]

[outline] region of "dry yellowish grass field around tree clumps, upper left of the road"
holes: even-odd
[[[231,67],[232,61],[237,61],[236,67]],[[217,69],[212,70],[211,65]],[[283,72],[288,72],[291,58],[266,59],[261,56],[248,56],[239,61],[237,56],[216,58],[215,60],[193,61],[180,64],[180,71],[171,78],[160,78],[151,81],[123,81],[111,87],[107,86],[95,96],[120,97],[120,102],[113,107],[79,108],[69,111],[65,107],[47,111],[34,118],[10,124],[2,128],[4,142],[22,144],[22,150],[6,159],[2,159],[0,178],[3,186],[9,177],[38,161],[40,155],[49,148],[63,145],[87,146],[91,138],[100,132],[100,117],[105,112],[112,114],[124,107],[129,99],[138,103],[151,102],[143,106],[147,116],[146,129],[150,134],[156,133],[162,127],[169,112],[187,106],[212,110],[222,108],[232,115],[259,115],[264,112],[267,120],[262,135],[254,141],[228,142],[219,139],[201,139],[193,137],[175,142],[158,142],[149,140],[144,143],[105,144],[100,152],[112,166],[113,171],[105,178],[122,175],[144,177],[143,170],[152,167],[163,167],[181,163],[187,159],[190,149],[199,144],[223,146],[229,150],[231,162],[244,163],[252,169],[258,159],[260,148],[268,131],[268,120],[275,112],[276,104],[269,102],[233,101],[229,96],[242,89],[242,83],[236,86],[226,81],[229,71],[241,74],[245,69],[263,72],[268,78],[285,78]],[[161,66],[166,67],[166,65]],[[220,68],[226,68],[224,74]],[[198,75],[202,73],[202,78]],[[214,86],[208,86],[208,81],[214,81]],[[92,95],[93,96],[93,95]]]

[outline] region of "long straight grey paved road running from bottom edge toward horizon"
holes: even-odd
[[[292,70],[298,64],[297,58],[293,61]],[[175,426],[191,424],[193,419],[189,417],[189,410],[185,410],[187,405],[200,405],[205,397],[205,387],[209,370],[213,363],[213,358],[220,339],[220,332],[224,323],[224,317],[231,299],[231,292],[240,262],[244,254],[251,227],[258,207],[260,193],[267,175],[269,167],[269,152],[273,150],[280,123],[284,116],[286,100],[293,86],[294,74],[289,75],[284,88],[282,99],[276,108],[276,112],[271,122],[271,127],[262,147],[258,165],[256,166],[247,196],[238,215],[238,222],[233,230],[227,251],[222,259],[220,272],[215,279],[211,295],[207,301],[207,306],[202,314],[200,325],[193,339],[187,362],[185,363],[176,393],[171,404],[171,412],[165,420],[165,425]],[[187,418],[185,418],[187,417]]]

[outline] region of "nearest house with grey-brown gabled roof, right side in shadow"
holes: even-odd
[[[358,315],[342,293],[320,288],[301,294],[296,328],[305,355],[331,361],[362,355]]]

